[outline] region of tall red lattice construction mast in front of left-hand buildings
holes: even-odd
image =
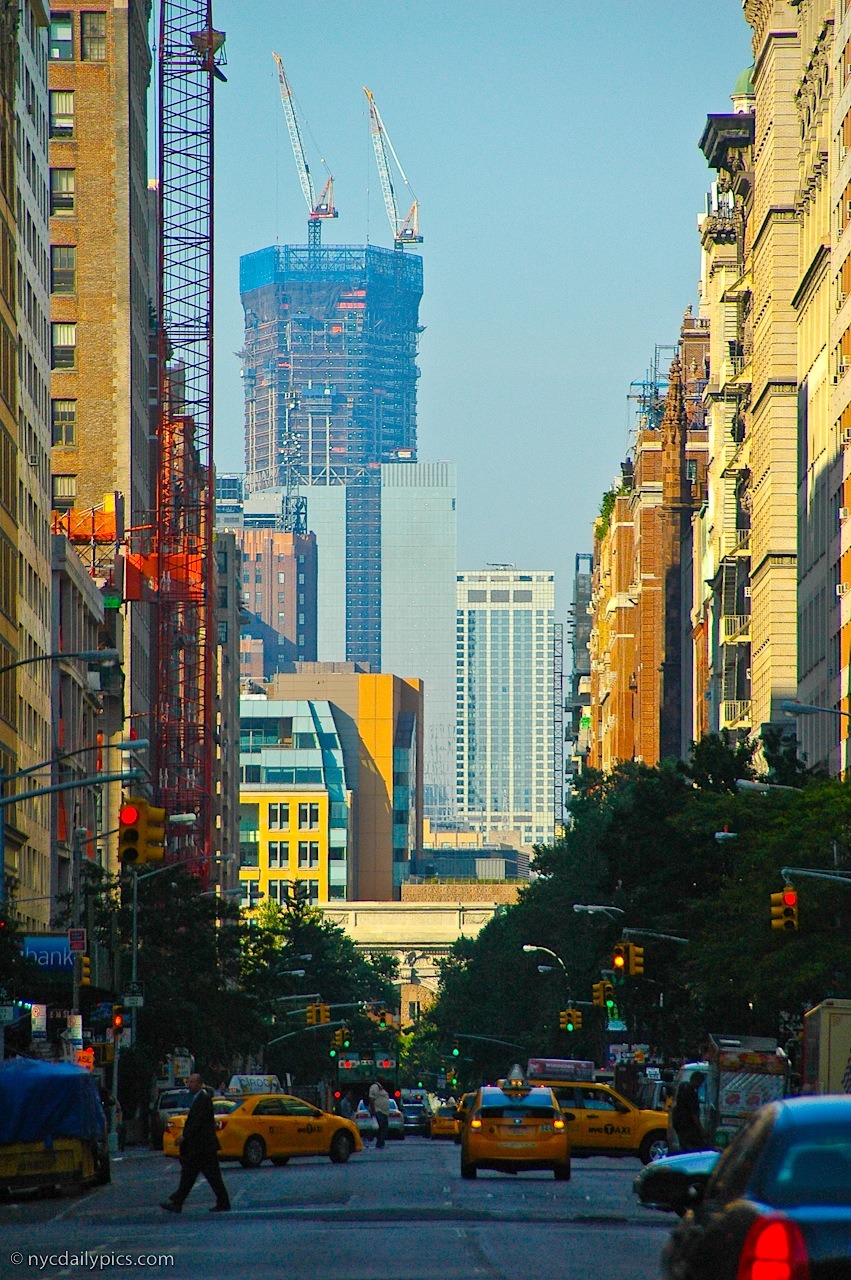
[[[214,835],[212,99],[224,32],[211,0],[160,0],[155,794],[195,813],[179,852],[200,879]]]

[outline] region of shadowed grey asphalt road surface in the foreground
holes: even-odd
[[[407,1139],[348,1165],[223,1165],[230,1213],[198,1179],[183,1213],[159,1202],[173,1160],[129,1151],[81,1198],[0,1204],[0,1277],[160,1280],[655,1280],[672,1220],[640,1210],[637,1160],[576,1160],[552,1174],[480,1172],[458,1147]]]

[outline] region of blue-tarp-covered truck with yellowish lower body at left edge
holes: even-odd
[[[110,1180],[97,1080],[70,1062],[0,1062],[0,1198],[37,1187]]]

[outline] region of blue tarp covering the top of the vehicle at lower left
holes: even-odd
[[[104,1138],[97,1080],[70,1062],[0,1062],[0,1143]]]

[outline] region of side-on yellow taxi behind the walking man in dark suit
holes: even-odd
[[[219,1157],[238,1160],[246,1169],[258,1169],[266,1157],[273,1165],[285,1165],[293,1156],[329,1156],[333,1164],[343,1165],[352,1152],[363,1149],[351,1120],[287,1093],[216,1101],[233,1103],[229,1111],[216,1115]]]

